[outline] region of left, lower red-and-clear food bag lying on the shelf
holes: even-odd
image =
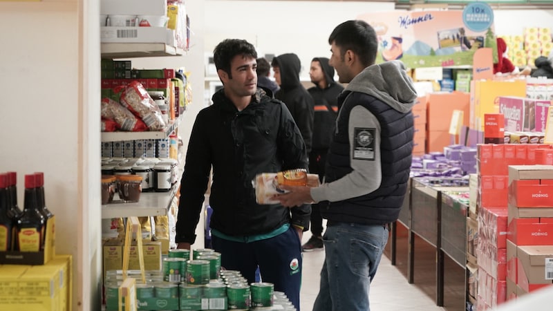
[[[148,129],[146,124],[135,117],[129,109],[126,109],[120,103],[110,98],[102,98],[100,113],[102,114],[102,119],[115,121],[118,125],[118,130],[140,132]]]

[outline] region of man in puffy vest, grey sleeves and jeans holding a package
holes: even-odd
[[[325,261],[313,310],[369,310],[368,293],[409,180],[417,98],[404,64],[375,64],[377,36],[365,21],[337,26],[330,66],[348,83],[320,187],[283,187],[284,206],[319,202],[327,219]]]

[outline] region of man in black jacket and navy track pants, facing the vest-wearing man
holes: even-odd
[[[210,227],[221,265],[240,271],[248,283],[259,265],[263,281],[299,310],[301,235],[311,207],[259,205],[252,180],[259,173],[308,169],[306,145],[285,104],[257,87],[256,57],[254,46],[241,39],[225,39],[214,49],[223,88],[191,131],[175,241],[185,249],[194,243],[213,169]]]

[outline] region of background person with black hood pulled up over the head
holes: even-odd
[[[313,99],[306,88],[299,81],[301,62],[294,53],[287,53],[274,57],[271,62],[274,71],[274,79],[281,87],[274,95],[283,101],[294,121],[299,127],[301,136],[306,142],[308,154],[311,151],[311,138],[313,135]]]

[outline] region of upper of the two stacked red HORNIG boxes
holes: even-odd
[[[553,207],[553,180],[513,180],[509,204],[521,207]]]

